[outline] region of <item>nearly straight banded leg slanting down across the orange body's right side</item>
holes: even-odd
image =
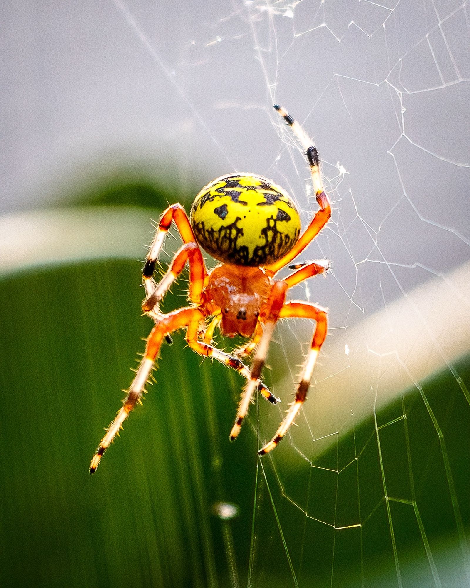
[[[276,326],[279,313],[284,305],[284,300],[286,299],[287,288],[287,284],[280,281],[274,284],[273,290],[271,291],[271,295],[267,303],[267,316],[264,324],[263,335],[261,335],[260,343],[253,358],[253,362],[251,363],[250,379],[248,380],[247,385],[241,395],[235,423],[230,431],[231,441],[234,441],[239,435],[243,419],[247,415],[251,397],[253,396],[253,392],[256,389],[257,383],[259,382],[261,370],[263,369],[264,362],[266,361],[266,355],[271,337],[273,336],[274,326]]]

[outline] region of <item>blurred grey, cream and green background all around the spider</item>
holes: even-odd
[[[470,585],[465,2],[25,0],[0,27],[2,583]],[[305,253],[333,269],[292,293],[330,308],[298,426],[257,458],[311,323],[279,326],[282,408],[233,444],[243,381],[176,335],[90,477],[152,327],[152,219],[234,171],[317,209],[273,103],[334,203]]]

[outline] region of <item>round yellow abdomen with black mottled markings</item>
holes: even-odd
[[[300,217],[288,193],[249,173],[221,176],[204,186],[190,220],[199,245],[235,265],[269,265],[286,255],[300,234]]]

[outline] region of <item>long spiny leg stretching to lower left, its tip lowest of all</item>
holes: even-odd
[[[144,387],[149,379],[150,372],[153,368],[153,362],[159,353],[164,337],[172,331],[188,325],[194,326],[194,328],[197,329],[198,323],[203,318],[204,315],[199,308],[182,308],[170,312],[167,315],[162,315],[162,320],[153,327],[152,332],[150,332],[149,338],[147,339],[143,359],[140,362],[134,379],[132,380],[129,392],[127,392],[123,401],[123,406],[117,413],[116,418],[110,424],[106,435],[98,446],[98,449],[96,449],[96,453],[93,456],[90,465],[90,473],[95,473],[103,454],[119,432],[123,422],[127,419],[127,416],[129,416],[130,411],[135,407],[137,402],[141,401],[140,399],[142,398]]]

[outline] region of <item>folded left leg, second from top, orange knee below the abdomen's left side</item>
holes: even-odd
[[[172,265],[170,265],[160,282],[155,285],[152,294],[143,301],[142,309],[144,312],[150,312],[156,303],[162,300],[174,280],[183,271],[187,260],[189,260],[189,298],[196,304],[200,303],[206,271],[199,245],[196,242],[189,242],[179,249],[173,258]]]

